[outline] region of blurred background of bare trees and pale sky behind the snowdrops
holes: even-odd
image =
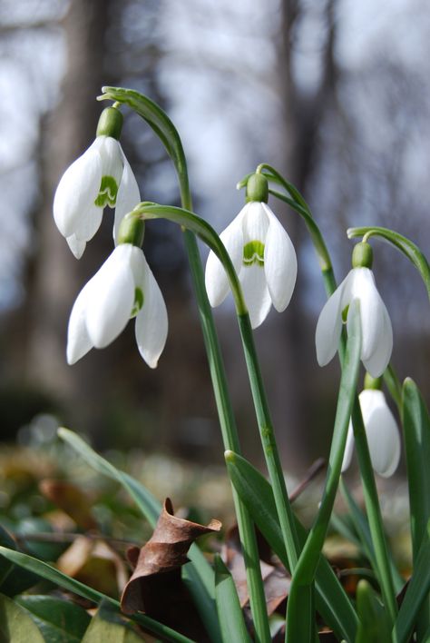
[[[428,254],[425,0],[1,0],[0,53],[5,442],[18,436],[23,449],[31,447],[34,417],[49,413],[55,425],[91,435],[102,450],[171,454],[199,461],[206,471],[222,464],[175,226],[152,222],[144,243],[170,321],[157,371],[140,359],[132,324],[107,349],[73,367],[65,362],[68,316],[83,283],[111,252],[112,213],[77,262],[55,228],[53,195],[65,168],[93,140],[101,111],[95,97],[104,84],[137,89],[167,110],[190,163],[196,212],[217,230],[243,203],[236,182],[268,162],[310,203],[337,279],[349,268],[348,226],[392,227]],[[171,163],[134,114],[125,114],[122,145],[142,199],[178,203]],[[327,454],[338,369],[321,371],[315,357],[325,295],[312,247],[297,216],[272,205],[296,244],[298,283],[288,311],[272,312],[256,341],[285,468],[299,474]],[[424,286],[403,257],[380,242],[374,247],[376,280],[394,326],[393,363],[402,380],[412,375],[428,397]],[[201,252],[205,257],[207,250]],[[244,452],[258,461],[231,302],[215,316]]]

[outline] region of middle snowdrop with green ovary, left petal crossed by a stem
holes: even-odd
[[[262,174],[249,178],[248,202],[220,233],[238,273],[252,328],[266,319],[273,303],[284,311],[291,299],[297,276],[294,246],[267,205],[268,184]],[[206,264],[206,290],[211,306],[219,306],[229,292],[224,268],[210,251]]]

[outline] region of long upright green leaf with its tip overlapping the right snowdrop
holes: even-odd
[[[347,349],[343,361],[333,440],[328,460],[327,480],[317,517],[298,559],[289,589],[287,605],[288,643],[306,643],[313,638],[313,581],[324,546],[327,528],[336,498],[340,471],[347,442],[347,430],[357,396],[357,379],[361,356],[359,302],[352,302],[348,313]]]

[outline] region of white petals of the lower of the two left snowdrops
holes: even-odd
[[[73,305],[67,337],[67,361],[74,364],[93,347],[104,348],[136,317],[136,341],[153,369],[167,338],[167,311],[141,248],[120,243]]]

